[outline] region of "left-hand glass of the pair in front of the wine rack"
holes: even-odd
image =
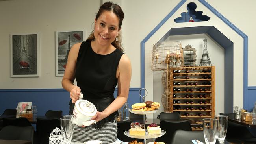
[[[217,139],[218,120],[213,118],[203,119],[204,140],[206,144],[215,144]]]

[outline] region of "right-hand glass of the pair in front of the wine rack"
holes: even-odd
[[[220,144],[223,144],[228,129],[228,116],[215,116],[214,118],[218,120],[217,139]]]

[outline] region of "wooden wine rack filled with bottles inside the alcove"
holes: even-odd
[[[174,73],[174,70],[180,70],[180,73]],[[204,70],[204,72],[203,72]],[[205,72],[207,70],[207,72]],[[171,68],[173,76],[176,79],[173,79],[173,82],[180,82],[180,85],[173,85],[171,91],[173,95],[173,101],[180,101],[180,103],[173,103],[173,112],[177,111],[180,113],[181,118],[190,119],[197,124],[202,124],[202,119],[204,118],[214,118],[215,116],[215,66],[195,66],[195,67],[180,67],[180,68]],[[186,71],[188,73],[186,73]],[[185,79],[185,77],[189,77]],[[207,77],[207,78],[203,78]],[[208,85],[208,82],[211,82],[211,85]],[[186,85],[186,83],[197,83],[198,85]],[[206,84],[206,85],[203,85]],[[173,91],[173,89],[180,88],[180,91]],[[206,91],[198,91],[199,89],[207,89]],[[193,89],[193,91],[186,91],[186,89]],[[193,98],[186,98],[185,95],[193,95]],[[198,95],[206,95],[207,97],[199,98]],[[193,103],[185,103],[186,101],[193,101]],[[198,101],[206,101],[206,104],[198,103]],[[193,107],[193,110],[186,110],[186,107]],[[206,107],[206,110],[198,109],[199,107]],[[185,114],[188,113],[189,116]],[[202,116],[198,114],[201,113]],[[193,131],[201,131],[202,127],[192,127]]]

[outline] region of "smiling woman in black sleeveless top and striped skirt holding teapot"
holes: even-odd
[[[123,53],[121,45],[121,25],[124,13],[113,2],[106,2],[96,14],[94,31],[86,42],[74,44],[69,52],[67,66],[62,80],[64,89],[70,92],[70,113],[79,99],[92,102],[97,108],[93,117],[97,121],[91,126],[75,125],[72,142],[101,140],[115,142],[117,122],[115,114],[128,98],[131,64]],[[74,79],[77,86],[73,84]],[[118,83],[118,94],[113,93]]]

